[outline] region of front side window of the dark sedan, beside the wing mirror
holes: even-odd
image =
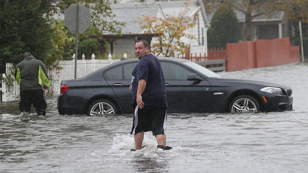
[[[188,74],[194,72],[171,62],[160,62],[165,80],[187,80]]]

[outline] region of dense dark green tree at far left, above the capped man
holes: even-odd
[[[1,73],[5,72],[6,62],[17,64],[27,51],[45,62],[52,35],[46,17],[50,6],[50,1],[0,1]]]

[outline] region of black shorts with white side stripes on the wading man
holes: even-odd
[[[152,131],[154,136],[166,135],[166,113],[166,107],[144,106],[142,109],[139,109],[137,106],[131,134]]]

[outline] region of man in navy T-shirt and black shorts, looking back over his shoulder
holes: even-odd
[[[135,109],[133,127],[136,150],[140,150],[144,132],[152,131],[157,139],[157,148],[170,150],[166,146],[166,84],[160,62],[150,53],[149,43],[139,40],[135,53],[139,62],[132,71],[132,82],[129,90],[133,94],[132,107]],[[136,151],[132,149],[131,151]]]

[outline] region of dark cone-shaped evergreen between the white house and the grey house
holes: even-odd
[[[227,43],[235,43],[240,39],[241,29],[236,14],[230,6],[220,6],[215,11],[208,30],[208,47],[225,48]]]

